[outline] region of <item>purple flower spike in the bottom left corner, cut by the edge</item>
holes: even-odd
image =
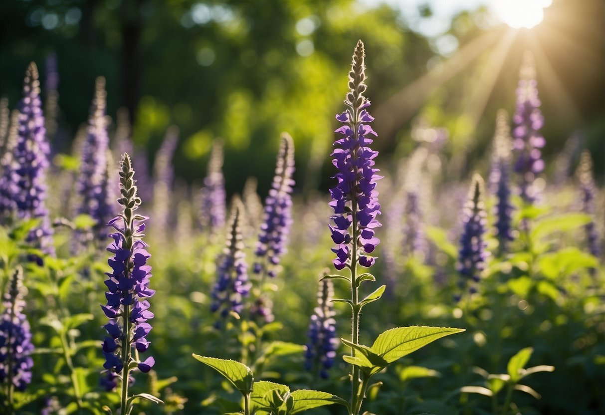
[[[0,317],[0,382],[12,382],[19,391],[31,383],[34,350],[30,324],[23,313],[25,301],[23,272],[15,270],[4,295],[4,313]]]

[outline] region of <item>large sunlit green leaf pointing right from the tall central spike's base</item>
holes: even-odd
[[[414,325],[412,327],[391,328],[381,333],[371,347],[374,353],[382,356],[391,363],[399,358],[409,355],[420,347],[454,333],[464,332],[463,328],[426,327]]]

